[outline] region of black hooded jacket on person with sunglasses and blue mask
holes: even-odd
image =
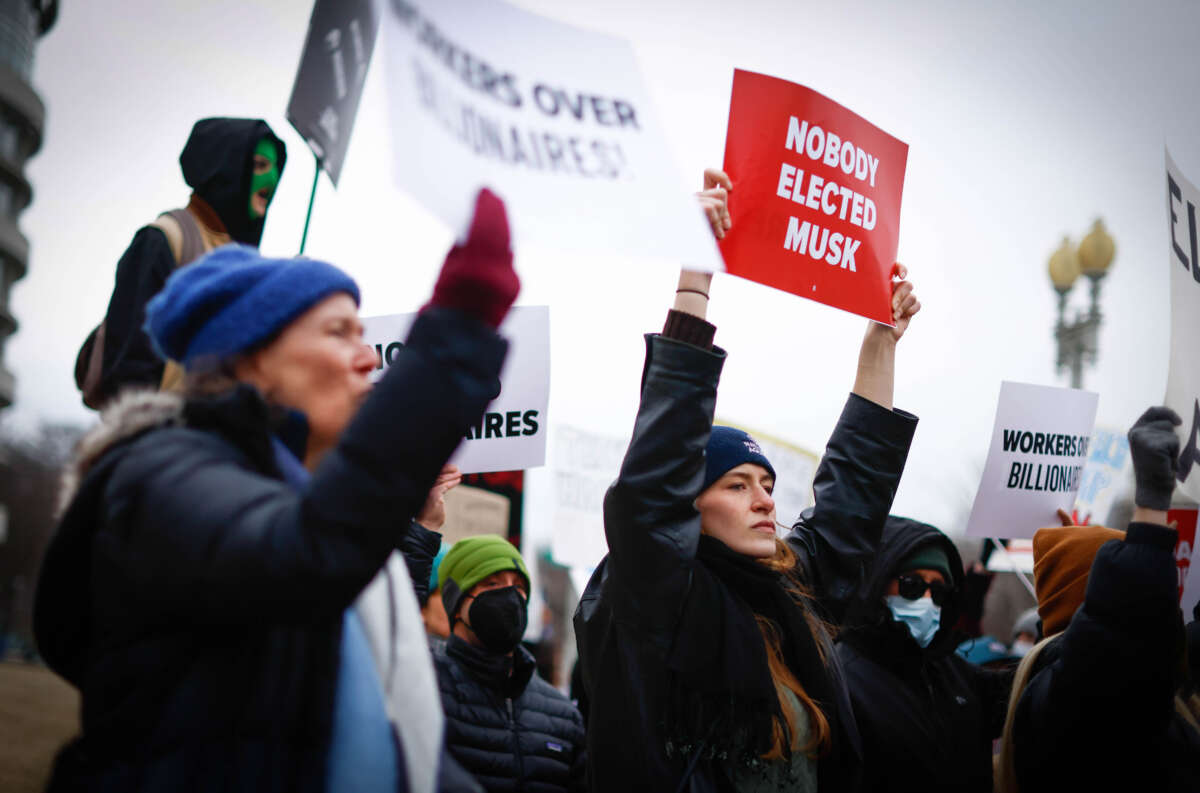
[[[901,560],[928,543],[946,551],[955,594],[922,648],[892,617],[884,591]],[[962,583],[949,537],[926,523],[888,517],[838,637],[863,739],[864,791],[991,791],[991,741],[1004,727],[1012,672],[982,669],[955,654]]]

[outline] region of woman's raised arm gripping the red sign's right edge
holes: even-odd
[[[871,323],[858,356],[854,390],[834,427],[812,481],[814,505],[787,536],[814,594],[834,621],[865,578],[892,509],[917,417],[892,408],[896,342],[920,302],[896,264],[895,328]]]

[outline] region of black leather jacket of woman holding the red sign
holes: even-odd
[[[670,750],[664,731],[667,659],[692,576],[707,572],[696,561],[700,515],[692,501],[704,477],[725,353],[656,335],[646,346],[632,439],[605,498],[608,555],[575,613],[594,791],[674,791],[691,759]],[[858,396],[847,401],[817,470],[816,506],[790,536],[821,602],[850,591],[846,575],[860,579],[916,423]],[[823,704],[838,709],[842,732],[834,738],[835,757],[818,763],[820,781],[822,789],[853,792],[858,733],[836,663],[832,674],[838,702]],[[688,779],[694,792],[728,786],[721,761],[709,757]]]

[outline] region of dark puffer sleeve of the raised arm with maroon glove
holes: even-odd
[[[210,433],[144,438],[139,453],[118,464],[106,498],[107,519],[128,527],[118,535],[122,547],[112,548],[113,564],[130,585],[154,591],[163,613],[196,621],[344,609],[397,547],[466,428],[496,395],[505,350],[479,320],[445,308],[424,312],[300,493],[250,473]]]

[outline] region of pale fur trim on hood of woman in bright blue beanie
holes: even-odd
[[[130,389],[108,403],[92,427],[76,446],[74,457],[62,471],[59,487],[59,517],[79,492],[79,483],[104,452],[148,429],[179,425],[184,416],[184,397],[169,391]]]

